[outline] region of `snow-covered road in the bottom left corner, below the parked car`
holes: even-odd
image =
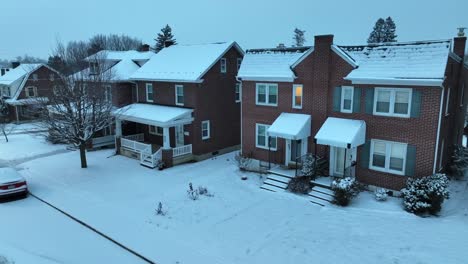
[[[0,212],[0,256],[15,264],[145,263],[31,196]]]

